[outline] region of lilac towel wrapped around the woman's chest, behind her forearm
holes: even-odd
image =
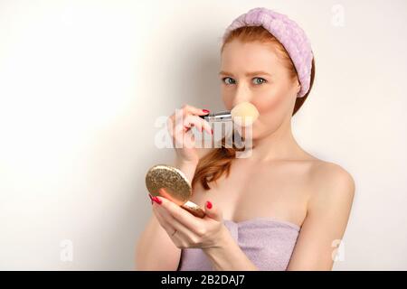
[[[241,222],[225,219],[224,225],[251,262],[262,271],[282,271],[296,245],[299,227],[287,221],[257,218]],[[201,248],[182,250],[179,271],[212,271]]]

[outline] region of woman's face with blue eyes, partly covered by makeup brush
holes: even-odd
[[[222,51],[224,105],[231,110],[248,101],[259,110],[259,118],[252,126],[253,139],[270,135],[291,117],[300,89],[272,45],[235,40],[225,44]]]

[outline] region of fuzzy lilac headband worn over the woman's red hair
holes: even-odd
[[[232,30],[242,26],[263,26],[267,29],[289,53],[289,57],[297,70],[301,89],[298,98],[304,97],[311,81],[311,66],[313,53],[306,33],[297,23],[285,14],[279,14],[264,7],[253,8],[246,14],[241,14],[230,24],[223,34],[223,42]]]

